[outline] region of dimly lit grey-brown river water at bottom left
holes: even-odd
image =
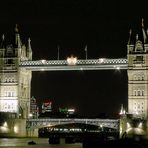
[[[28,145],[32,140],[36,145]],[[48,144],[48,138],[0,138],[0,148],[82,148],[82,144]]]

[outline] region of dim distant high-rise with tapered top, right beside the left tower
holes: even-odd
[[[36,99],[32,97],[30,99],[30,117],[31,118],[38,118],[39,115],[39,108],[37,106]]]

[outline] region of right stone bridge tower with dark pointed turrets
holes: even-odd
[[[142,19],[142,33],[130,31],[127,45],[128,58],[128,112],[148,118],[148,42]]]

